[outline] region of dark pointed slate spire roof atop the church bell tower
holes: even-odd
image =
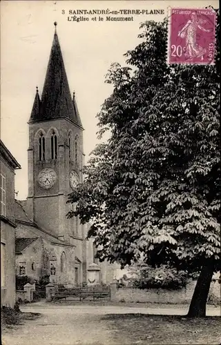
[[[70,95],[59,39],[55,30],[41,99],[37,90],[29,123],[62,117],[68,118],[83,129],[77,107],[75,107],[75,99],[73,100]]]

